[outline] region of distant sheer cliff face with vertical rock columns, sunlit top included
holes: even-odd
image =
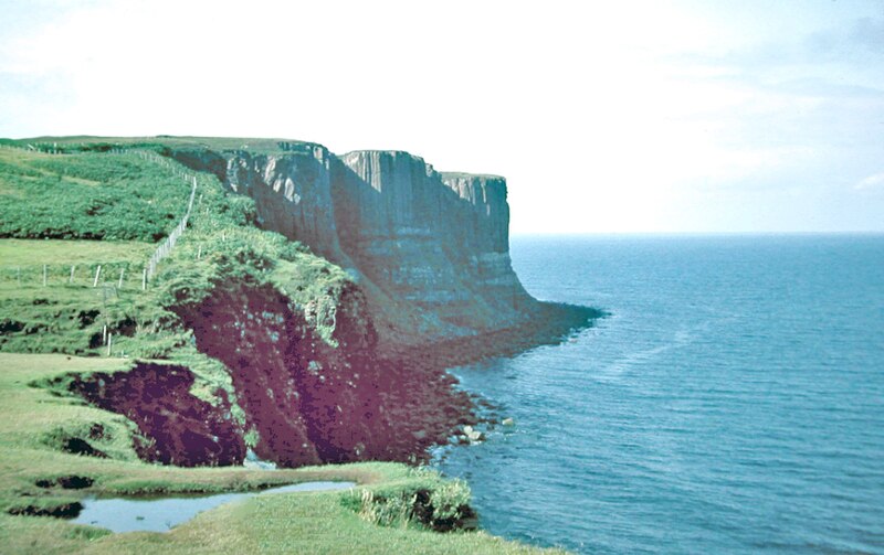
[[[172,154],[253,198],[264,228],[347,269],[382,348],[499,330],[535,312],[511,267],[503,178],[440,173],[400,151],[280,147]]]

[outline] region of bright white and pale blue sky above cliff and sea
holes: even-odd
[[[515,234],[884,232],[884,0],[0,0],[0,137],[505,175]]]

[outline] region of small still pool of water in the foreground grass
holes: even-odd
[[[239,499],[297,491],[346,490],[354,485],[356,485],[355,482],[304,482],[245,493],[166,498],[92,498],[82,501],[83,511],[71,522],[99,526],[114,532],[168,532],[172,526],[189,521],[202,511]]]

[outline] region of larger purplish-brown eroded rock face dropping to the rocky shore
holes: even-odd
[[[410,460],[469,414],[450,381],[378,359],[356,287],[338,299],[337,348],[267,286],[231,284],[177,310],[200,351],[230,369],[262,459],[284,467]]]

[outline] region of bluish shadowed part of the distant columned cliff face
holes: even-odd
[[[330,164],[335,221],[341,248],[367,278],[360,284],[385,349],[474,335],[534,313],[537,301],[509,266],[503,182],[495,209],[502,213],[494,214],[407,152],[347,157],[356,161]],[[371,162],[360,167],[359,157]]]

